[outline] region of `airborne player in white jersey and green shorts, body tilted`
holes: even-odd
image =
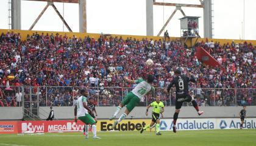
[[[116,115],[119,113],[121,108],[126,105],[126,111],[119,117],[118,120],[116,120],[113,124],[113,127],[111,130],[113,130],[116,125],[121,122],[121,120],[125,119],[126,116],[132,111],[132,109],[140,103],[140,99],[143,98],[149,91],[154,92],[154,87],[151,86],[151,84],[154,82],[154,77],[151,74],[147,75],[147,80],[144,81],[143,79],[140,80],[130,80],[127,77],[124,77],[124,80],[128,83],[136,83],[137,86],[129,92],[126,97],[124,97],[123,101],[119,104],[117,107],[115,113],[112,117],[110,117],[110,120],[115,119]]]

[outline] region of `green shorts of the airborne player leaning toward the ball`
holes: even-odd
[[[125,106],[128,111],[132,111],[132,109],[140,103],[140,98],[138,96],[135,96],[132,92],[129,92],[126,97],[124,97],[124,100],[122,101],[122,105]]]

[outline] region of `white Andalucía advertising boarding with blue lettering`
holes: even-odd
[[[235,129],[240,128],[241,120],[238,118],[225,119],[178,119],[176,123],[177,130],[211,130],[211,129]],[[161,119],[160,130],[171,131],[172,119]],[[244,128],[256,128],[256,118],[246,118],[243,124]]]

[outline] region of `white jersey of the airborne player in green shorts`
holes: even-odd
[[[137,83],[137,86],[135,86],[135,88],[132,90],[132,93],[135,94],[135,96],[138,96],[140,99],[149,91],[154,89],[148,82],[144,81],[143,79],[135,80],[135,83]]]

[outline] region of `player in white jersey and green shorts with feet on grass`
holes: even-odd
[[[74,120],[75,122],[77,122],[77,117],[79,120],[81,120],[82,122],[84,122],[86,125],[87,124],[91,124],[92,126],[92,130],[93,130],[93,139],[100,139],[100,137],[96,136],[96,122],[93,119],[93,117],[91,117],[90,114],[88,113],[92,113],[93,111],[91,111],[91,109],[87,106],[87,97],[88,97],[88,91],[85,89],[81,89],[80,90],[80,94],[81,96],[77,99],[75,108],[74,108]],[[88,135],[88,128],[85,127],[85,139],[88,139],[89,135]]]

